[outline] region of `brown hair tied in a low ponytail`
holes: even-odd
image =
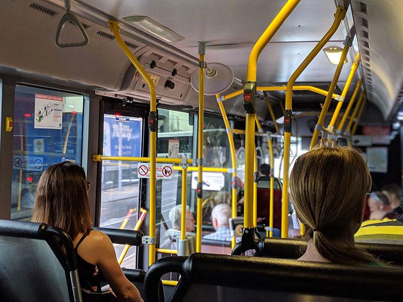
[[[291,172],[290,190],[305,239],[334,263],[376,261],[354,246],[363,219],[363,200],[371,176],[360,154],[347,147],[318,147],[300,156]]]

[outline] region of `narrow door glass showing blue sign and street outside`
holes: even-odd
[[[143,119],[104,115],[103,155],[140,157]],[[100,226],[132,230],[139,212],[138,162],[103,161]]]

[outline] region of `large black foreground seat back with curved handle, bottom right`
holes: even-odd
[[[153,288],[169,270],[181,274],[171,302],[403,300],[403,271],[396,267],[197,253],[153,264],[146,274],[146,302],[155,300]]]

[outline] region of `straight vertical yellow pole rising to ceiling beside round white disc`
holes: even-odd
[[[206,44],[198,44],[198,123],[197,123],[197,212],[196,212],[196,253],[201,252],[201,224],[203,221],[203,128],[204,128],[204,75]]]

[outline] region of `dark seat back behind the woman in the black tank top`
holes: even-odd
[[[61,229],[0,219],[0,251],[0,301],[81,301],[73,242]]]

